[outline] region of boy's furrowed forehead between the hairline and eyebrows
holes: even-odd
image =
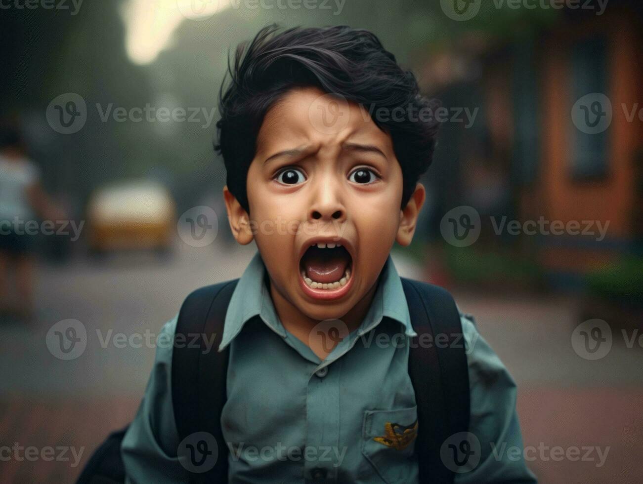
[[[299,87],[291,89],[266,112],[257,152],[303,144],[340,147],[346,141],[376,145],[393,155],[390,135],[377,127],[368,107],[315,87]]]

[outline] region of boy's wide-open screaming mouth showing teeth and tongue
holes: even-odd
[[[341,297],[352,281],[352,257],[344,246],[334,242],[308,247],[299,269],[303,289],[315,298]]]

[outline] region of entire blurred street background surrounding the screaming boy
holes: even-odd
[[[372,30],[440,100],[399,272],[475,316],[518,383],[525,449],[606,454],[536,452],[541,482],[643,480],[640,1],[0,8],[0,447],[40,456],[12,451],[0,482],[73,481],[134,416],[185,296],[248,264],[212,140],[228,53],[271,22]]]

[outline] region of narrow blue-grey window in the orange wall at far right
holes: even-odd
[[[608,69],[606,39],[596,37],[575,44],[572,49],[572,103],[588,94],[608,96]],[[597,107],[596,112],[593,112],[593,107]],[[605,107],[593,101],[588,102],[583,109],[588,129],[572,126],[572,175],[577,179],[603,177],[607,174],[609,130],[591,132],[589,128],[599,121]]]

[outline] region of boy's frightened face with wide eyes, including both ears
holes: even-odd
[[[424,188],[404,210],[390,136],[367,111],[314,88],[266,113],[246,182],[250,214],[224,190],[241,244],[257,242],[271,284],[305,316],[341,318],[374,288],[395,242],[411,242]],[[335,247],[313,244],[341,244]]]

